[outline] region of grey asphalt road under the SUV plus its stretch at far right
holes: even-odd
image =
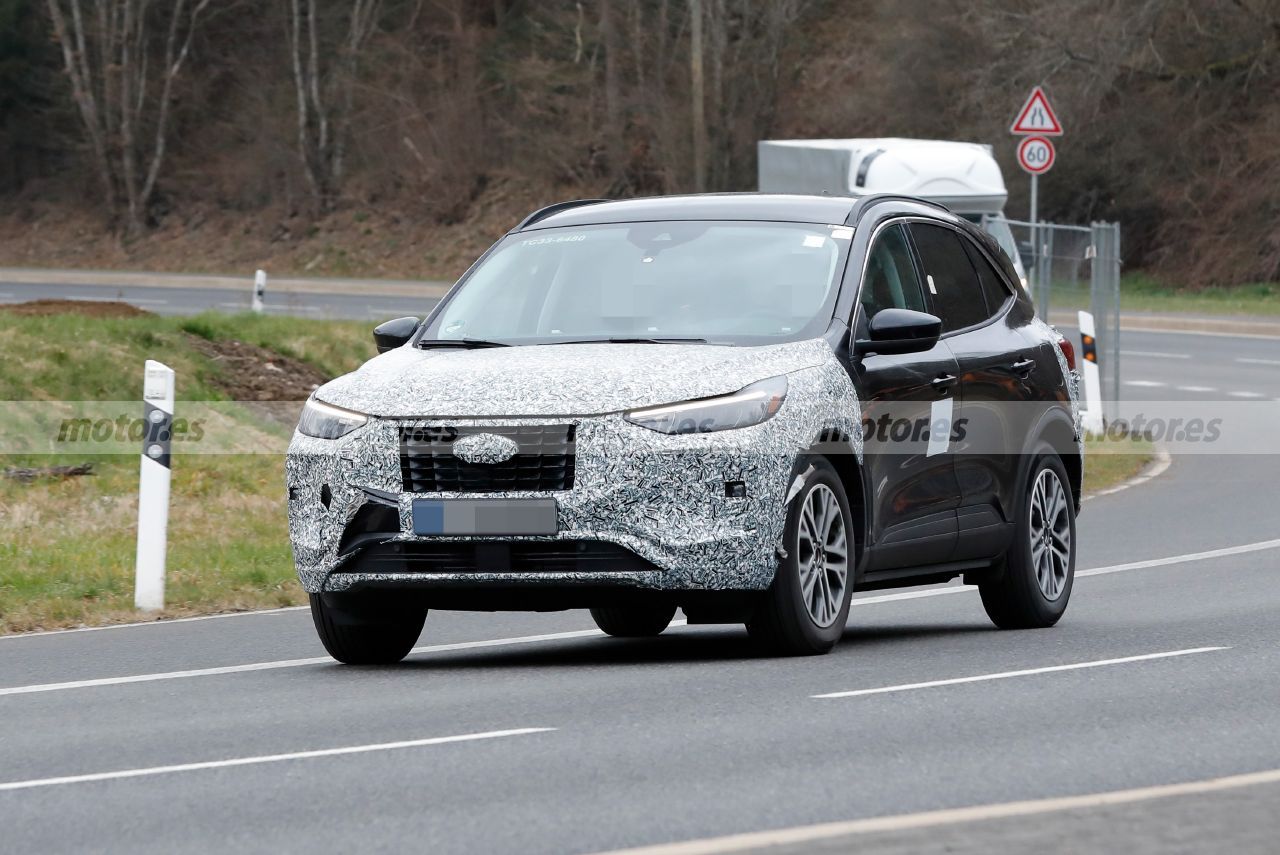
[[[1275,340],[1125,349],[1161,355],[1126,357],[1158,384],[1134,398],[1280,398]],[[1189,454],[1091,499],[1046,631],[946,586],[859,595],[809,659],[751,658],[739,627],[605,639],[582,612],[433,612],[367,669],[303,611],[0,639],[0,850],[590,852],[906,815],[780,851],[1272,852],[1280,779],[1143,794],[1280,769],[1277,483],[1280,456]]]

